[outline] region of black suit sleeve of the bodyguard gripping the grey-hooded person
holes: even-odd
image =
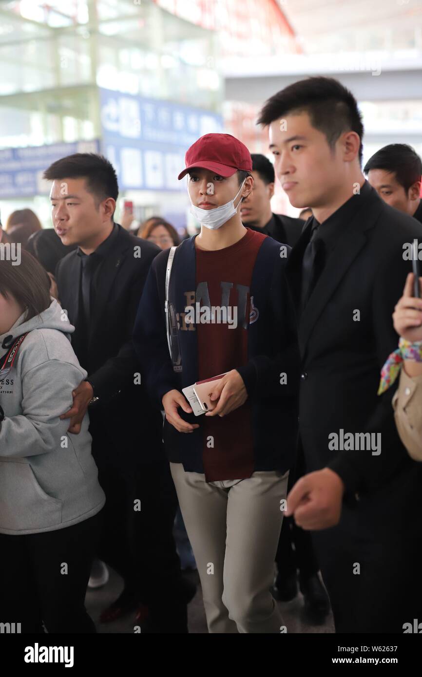
[[[125,343],[121,345],[117,355],[110,357],[96,372],[87,376],[87,380],[93,387],[94,395],[100,397],[100,399],[112,397],[123,387],[126,387],[129,380],[133,383],[133,375],[139,370],[139,363],[132,341],[133,324],[135,323],[136,311],[142,296],[146,276],[154,257],[156,257],[159,251],[159,248],[154,246],[148,246],[148,248],[145,247],[142,250],[142,265],[139,266],[137,274],[133,279],[127,311],[127,322],[122,327]]]

